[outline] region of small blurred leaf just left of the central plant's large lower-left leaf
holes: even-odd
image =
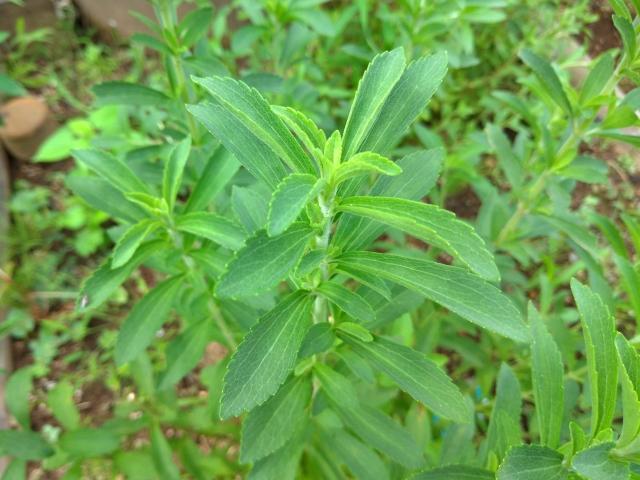
[[[158,380],[158,390],[175,385],[193,370],[209,342],[210,321],[204,320],[191,325],[178,335],[167,347],[167,367]]]

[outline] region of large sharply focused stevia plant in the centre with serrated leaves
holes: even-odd
[[[253,475],[272,478],[286,466],[292,477],[305,439],[362,478],[386,471],[370,447],[405,468],[422,465],[421,448],[407,432],[360,402],[354,382],[371,382],[376,373],[443,419],[469,420],[463,395],[435,363],[371,332],[377,318],[367,299],[383,306],[392,284],[505,337],[528,338],[520,313],[490,283],[498,270],[480,237],[419,201],[435,183],[442,152],[419,151],[395,163],[382,156],[445,71],[442,54],[406,70],[401,49],[377,56],[344,132],[329,138],[300,112],[270,108],[240,82],[194,79],[213,101],[189,110],[272,191],[266,220],[227,264],[215,294],[242,299],[287,277],[289,283],[290,293],[246,334],[224,380],[222,418],[249,412],[240,459],[255,462]],[[370,186],[372,174],[379,176]],[[449,253],[459,266],[367,251],[384,225]],[[327,452],[318,437],[336,438],[343,448]],[[324,468],[313,456],[309,461]]]

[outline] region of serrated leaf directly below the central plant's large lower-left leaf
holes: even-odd
[[[308,378],[292,378],[242,423],[240,461],[255,462],[284,446],[308,418],[311,400]]]

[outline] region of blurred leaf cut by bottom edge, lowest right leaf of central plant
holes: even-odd
[[[380,457],[367,445],[344,430],[323,432],[321,439],[330,445],[336,456],[344,462],[359,480],[387,480],[389,472]]]

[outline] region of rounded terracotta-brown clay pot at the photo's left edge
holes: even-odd
[[[0,140],[16,159],[29,161],[57,128],[47,104],[38,97],[19,97],[0,108]]]

